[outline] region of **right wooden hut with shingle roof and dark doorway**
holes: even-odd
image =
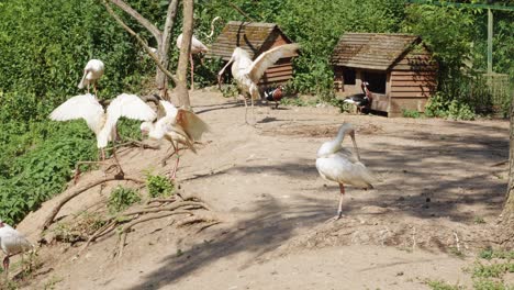
[[[420,36],[346,33],[332,55],[336,94],[361,93],[369,82],[371,110],[401,116],[403,110],[425,111],[437,87],[437,64]]]

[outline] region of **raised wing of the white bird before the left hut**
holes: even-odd
[[[299,47],[297,43],[284,44],[260,54],[248,68],[248,76],[252,81],[258,82],[268,67],[282,57],[291,56]]]

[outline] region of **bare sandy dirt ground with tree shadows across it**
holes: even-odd
[[[222,223],[170,225],[172,217],[135,226],[125,254],[118,235],[92,244],[40,250],[43,267],[27,289],[427,289],[431,279],[470,286],[462,268],[490,244],[507,181],[509,123],[387,119],[340,114],[334,108],[244,107],[198,90],[194,111],[212,133],[197,155],[182,155],[185,194],[201,198]],[[344,217],[338,186],[315,168],[316,150],[344,122],[356,127],[362,161],[380,179],[372,190],[348,187]],[[148,144],[157,144],[148,142]],[[350,146],[349,141],[345,141]],[[169,172],[161,149],[122,149],[124,170]],[[102,177],[83,175],[83,186]],[[123,181],[126,186],[134,186]],[[69,202],[59,216],[102,204],[115,182]],[[31,241],[59,197],[31,213],[19,230]]]

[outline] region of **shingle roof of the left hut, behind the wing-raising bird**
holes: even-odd
[[[255,55],[262,52],[261,48],[269,48],[264,46],[267,46],[265,44],[271,41],[270,35],[273,33],[280,33],[289,41],[275,23],[230,21],[217,36],[216,42],[211,45],[208,56],[217,56],[228,60],[234,48],[239,46],[254,58]]]

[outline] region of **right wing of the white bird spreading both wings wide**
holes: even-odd
[[[109,104],[107,109],[107,120],[98,136],[98,147],[108,145],[109,135],[114,130],[121,116],[139,121],[153,121],[157,114],[139,97],[135,94],[122,93]]]

